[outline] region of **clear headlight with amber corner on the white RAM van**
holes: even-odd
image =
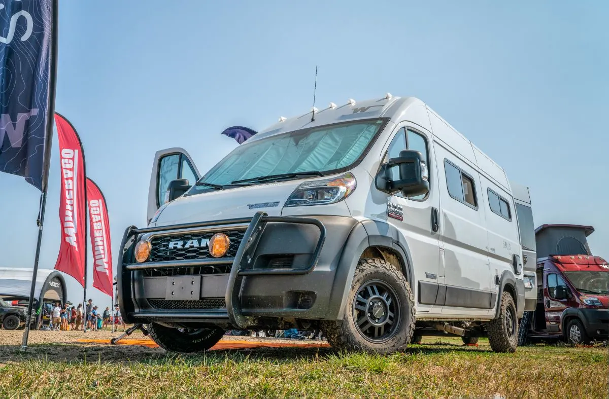
[[[294,190],[284,207],[334,204],[347,198],[355,187],[355,176],[351,173],[334,179],[304,182]]]

